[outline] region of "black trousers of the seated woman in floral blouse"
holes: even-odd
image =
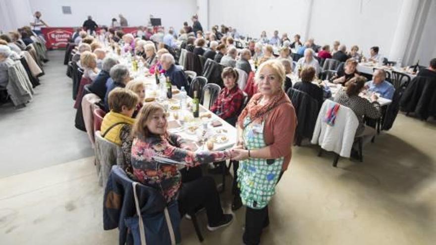
[[[199,207],[205,207],[209,225],[215,226],[222,219],[217,184],[210,176],[182,183],[177,201],[181,216],[195,212]]]

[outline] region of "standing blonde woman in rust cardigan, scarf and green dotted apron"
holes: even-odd
[[[260,93],[250,99],[237,122],[238,147],[232,159],[240,161],[235,179],[246,206],[242,240],[247,245],[260,243],[262,230],[269,225],[268,203],[291,160],[297,121],[283,91],[284,80],[278,60],[262,63],[256,74]]]

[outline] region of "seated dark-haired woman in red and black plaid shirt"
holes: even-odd
[[[224,88],[219,92],[218,98],[211,107],[211,111],[230,125],[235,126],[237,113],[244,102],[244,96],[237,84],[238,72],[231,67],[226,67],[222,70],[221,77],[224,82]]]

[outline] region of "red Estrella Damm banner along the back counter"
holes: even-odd
[[[73,27],[45,27],[41,28],[44,38],[46,39],[47,49],[59,49],[65,48],[70,42],[71,37],[74,33]],[[97,32],[101,28],[97,28]],[[138,27],[122,27],[124,33],[131,33],[136,37],[136,32]]]

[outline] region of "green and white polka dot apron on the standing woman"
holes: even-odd
[[[264,139],[265,120],[262,123],[251,122],[249,116],[244,120],[243,130],[246,149],[254,150],[266,147]],[[242,203],[250,208],[261,209],[268,205],[275,193],[283,157],[277,159],[248,158],[239,161],[238,187]]]

